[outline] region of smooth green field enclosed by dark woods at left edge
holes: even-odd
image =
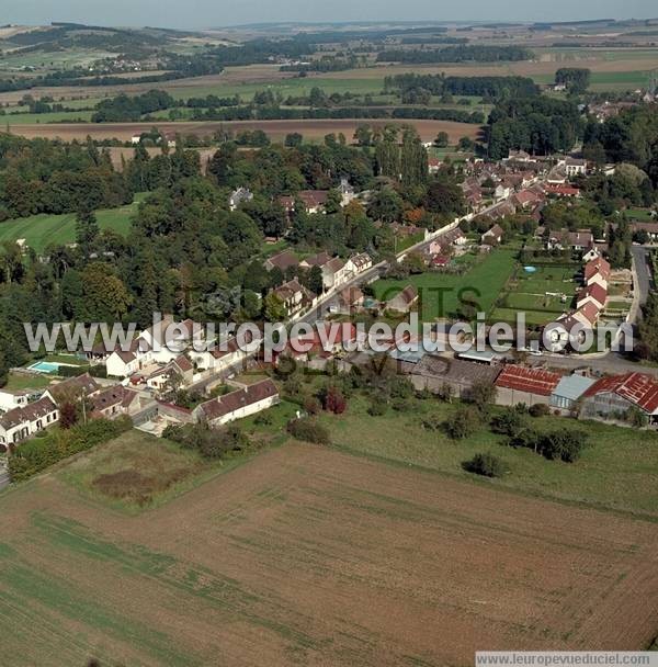
[[[145,196],[146,194],[139,193],[132,204],[97,211],[99,227],[126,235],[139,202]],[[0,223],[0,241],[16,241],[20,238],[24,238],[27,246],[36,252],[43,252],[49,244],[72,244],[76,240],[76,214],[41,214]]]

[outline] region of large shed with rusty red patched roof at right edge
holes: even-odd
[[[587,389],[582,398],[583,418],[623,418],[637,408],[658,421],[658,381],[646,373],[626,373],[602,377]]]

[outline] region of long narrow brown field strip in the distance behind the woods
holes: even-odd
[[[320,139],[330,133],[342,132],[349,139],[354,135],[358,125],[368,124],[373,127],[384,125],[413,125],[426,142],[434,139],[440,132],[446,132],[451,144],[456,144],[461,137],[477,138],[480,127],[469,123],[453,123],[450,121],[371,121],[371,120],[327,120],[327,121],[229,121],[229,122],[163,122],[157,123],[161,132],[178,132],[180,134],[212,135],[218,129],[232,129],[238,133],[245,129],[262,129],[274,142],[281,142],[291,132],[299,132],[308,139]],[[35,125],[11,125],[12,134],[34,138],[59,137],[66,142],[83,140],[87,136],[93,139],[116,138],[129,142],[134,134],[148,132],[154,123],[52,123]]]

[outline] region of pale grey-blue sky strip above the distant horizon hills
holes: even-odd
[[[572,21],[658,16],[656,0],[1,0],[3,23],[214,27],[277,21]],[[9,5],[9,7],[8,7]]]

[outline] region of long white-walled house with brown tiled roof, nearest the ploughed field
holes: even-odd
[[[279,389],[271,380],[218,396],[197,406],[192,415],[196,421],[218,427],[236,419],[243,419],[276,405],[280,402]]]

